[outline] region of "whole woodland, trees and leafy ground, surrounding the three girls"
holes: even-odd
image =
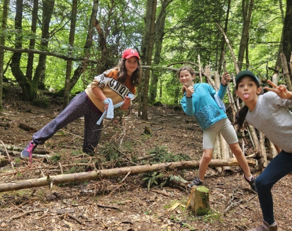
[[[271,80],[292,91],[291,0],[2,0],[0,19],[2,230],[247,230],[259,224],[258,199],[220,134],[204,183],[213,212],[195,216],[186,209],[202,131],[182,111],[177,71],[192,66],[195,83],[216,91],[228,71],[224,103],[232,122],[243,106],[235,93],[240,71],[251,70],[263,87]],[[131,110],[104,121],[95,154],[81,151],[81,118],[39,146],[32,164],[20,159],[33,133],[95,76],[117,66],[128,48],[139,53],[142,81]],[[238,138],[259,175],[276,148],[250,125]],[[52,176],[55,182],[48,181]],[[273,189],[278,230],[292,230],[290,179]]]

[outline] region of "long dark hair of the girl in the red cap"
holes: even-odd
[[[118,76],[117,76],[117,80],[118,82],[120,82],[121,84],[125,84],[126,83],[126,78],[127,78],[127,70],[126,70],[126,62],[127,59],[122,59],[118,66],[116,66],[114,69],[118,70]],[[132,83],[135,86],[138,86],[141,78],[142,78],[142,69],[141,69],[141,63],[140,60],[137,59],[138,65],[137,65],[137,69],[133,72],[133,74],[131,75],[131,80]]]

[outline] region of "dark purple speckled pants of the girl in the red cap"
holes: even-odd
[[[83,151],[92,152],[100,140],[102,123],[97,125],[96,122],[101,115],[102,112],[97,114],[91,109],[86,99],[86,92],[83,91],[75,96],[53,121],[33,135],[33,142],[37,145],[45,143],[58,130],[84,116]]]

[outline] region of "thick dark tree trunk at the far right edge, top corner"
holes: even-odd
[[[286,1],[286,14],[284,22],[283,53],[288,59],[292,51],[292,1]],[[283,60],[282,60],[283,63]],[[291,91],[291,90],[289,90]]]

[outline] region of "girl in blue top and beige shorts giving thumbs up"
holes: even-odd
[[[207,83],[194,84],[195,72],[189,66],[181,67],[178,77],[184,90],[184,96],[181,99],[182,108],[188,116],[196,118],[200,128],[203,130],[204,153],[200,162],[199,175],[188,184],[188,187],[192,188],[194,185],[203,183],[208,164],[212,159],[216,135],[221,132],[244,171],[243,178],[250,184],[252,191],[257,193],[255,177],[250,173],[247,160],[238,144],[236,132],[225,111],[215,101],[216,97],[221,98],[221,100],[224,99],[230,74],[228,72],[223,74],[218,92]]]

